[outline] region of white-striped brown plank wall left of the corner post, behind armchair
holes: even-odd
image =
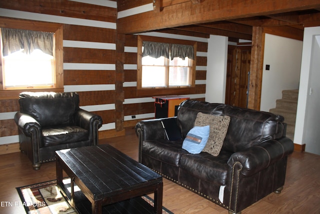
[[[115,136],[116,1],[2,0],[0,16],[63,24],[64,91],[77,91],[80,107],[102,117],[100,138]],[[17,98],[0,100],[0,154],[18,151],[18,110]]]

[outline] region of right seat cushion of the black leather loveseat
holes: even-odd
[[[180,168],[200,180],[216,185],[226,185],[227,161],[232,152],[221,151],[218,156],[209,153],[185,154],[180,160]]]

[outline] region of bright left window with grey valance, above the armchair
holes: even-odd
[[[3,89],[54,88],[54,34],[1,29]]]

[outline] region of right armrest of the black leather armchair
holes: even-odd
[[[90,142],[92,142],[92,145],[97,145],[98,129],[102,126],[102,118],[97,114],[79,109],[75,113],[74,121],[77,126],[89,131]]]

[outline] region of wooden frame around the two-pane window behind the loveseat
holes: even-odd
[[[194,60],[191,60],[191,69],[190,69],[190,86],[167,86],[167,87],[143,87],[142,88],[142,42],[150,41],[150,42],[164,42],[169,44],[180,44],[180,45],[192,45],[194,49]],[[190,88],[195,87],[195,66],[196,66],[196,45],[195,41],[187,41],[187,40],[178,40],[178,39],[163,39],[159,37],[150,37],[150,36],[137,36],[137,73],[136,73],[136,88],[139,93],[147,93],[147,91],[161,90],[161,93],[169,93],[169,91],[184,89],[188,90]],[[144,92],[142,92],[144,91]],[[157,93],[159,94],[159,93]]]

